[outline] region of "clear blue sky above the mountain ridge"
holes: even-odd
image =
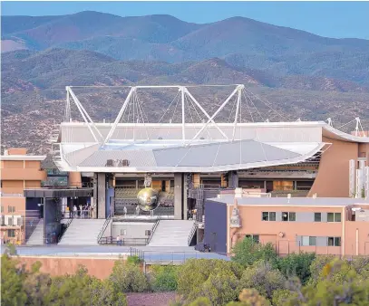
[[[369,2],[2,2],[3,15],[99,11],[134,16],[171,14],[193,23],[244,16],[327,37],[369,39]]]

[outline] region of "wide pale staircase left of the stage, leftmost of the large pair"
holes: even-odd
[[[97,245],[105,219],[73,219],[59,245]]]

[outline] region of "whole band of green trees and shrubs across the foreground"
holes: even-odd
[[[73,275],[27,271],[16,256],[1,263],[1,303],[18,305],[126,306],[129,292],[176,292],[171,306],[331,306],[369,304],[369,257],[292,253],[279,257],[273,244],[245,238],[230,261],[190,259],[182,265],[153,265],[143,273],[131,256],[115,262],[106,280],[81,266]]]

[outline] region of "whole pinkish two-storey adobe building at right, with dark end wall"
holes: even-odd
[[[232,253],[249,236],[280,255],[369,255],[369,199],[235,196],[206,201],[204,242],[213,252]]]

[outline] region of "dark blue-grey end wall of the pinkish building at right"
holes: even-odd
[[[211,252],[227,253],[227,206],[205,201],[204,243],[210,244]]]

